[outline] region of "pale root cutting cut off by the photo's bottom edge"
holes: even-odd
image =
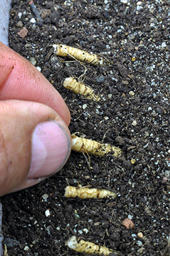
[[[69,248],[74,251],[78,251],[79,253],[84,253],[88,255],[122,255],[122,253],[118,251],[114,251],[105,246],[99,246],[92,242],[77,240],[76,236],[71,236],[69,240],[65,243]]]

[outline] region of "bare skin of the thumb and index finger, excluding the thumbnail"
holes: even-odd
[[[71,141],[70,113],[61,95],[29,61],[0,42],[0,196],[53,174],[28,178],[33,131],[48,120],[58,122]]]

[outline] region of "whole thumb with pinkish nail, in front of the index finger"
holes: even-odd
[[[0,102],[0,196],[56,173],[70,151],[69,129],[49,106],[22,100]]]

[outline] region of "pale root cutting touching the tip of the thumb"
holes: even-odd
[[[88,154],[92,154],[94,156],[105,156],[105,154],[113,153],[112,155],[116,157],[119,157],[122,153],[122,150],[114,145],[99,143],[97,141],[92,141],[92,139],[78,137],[75,134],[71,134],[71,138],[71,149],[76,152],[87,152]]]

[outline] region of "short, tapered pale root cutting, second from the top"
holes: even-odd
[[[73,91],[75,94],[80,94],[85,96],[86,98],[90,100],[99,101],[101,98],[95,94],[95,91],[91,89],[89,86],[84,85],[84,83],[80,83],[73,79],[73,77],[68,77],[63,82],[63,86],[70,91]]]

